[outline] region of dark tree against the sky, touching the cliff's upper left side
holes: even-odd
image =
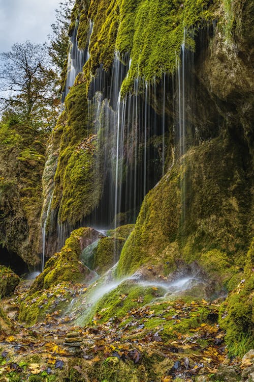
[[[59,9],[55,10],[56,22],[51,24],[52,34],[48,36],[50,40],[49,55],[52,64],[60,72],[63,69],[67,58],[67,48],[69,45],[69,26],[71,23],[72,8],[74,0],[65,0],[60,2]]]

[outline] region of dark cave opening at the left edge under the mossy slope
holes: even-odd
[[[10,267],[18,276],[29,272],[27,264],[15,252],[0,245],[0,265]]]

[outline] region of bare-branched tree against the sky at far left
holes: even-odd
[[[0,110],[29,123],[52,126],[58,113],[56,74],[47,44],[26,41],[0,53]]]

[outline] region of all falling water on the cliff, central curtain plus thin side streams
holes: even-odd
[[[92,26],[90,22],[88,41]],[[82,70],[80,61],[77,60],[77,54],[80,53],[77,29],[76,23],[70,51],[70,55],[75,56],[75,59],[72,59],[75,70],[68,73],[69,85],[74,82],[71,79],[73,73],[77,74]],[[89,45],[85,57],[85,60],[89,59]],[[111,69],[105,71],[103,65],[97,69],[90,84],[87,100],[87,119],[92,123],[88,126],[84,139],[90,139],[89,136],[93,134],[98,142],[96,167],[98,176],[102,177],[102,197],[90,215],[75,226],[70,226],[67,222],[57,223],[58,250],[70,236],[71,231],[79,226],[116,228],[122,224],[135,222],[144,196],[167,170],[165,166],[166,156],[169,153],[169,125],[172,123],[172,116],[174,116],[175,137],[171,139],[178,147],[176,156],[182,158],[183,164],[187,134],[185,77],[189,72],[189,69],[186,70],[189,56],[185,49],[185,31],[180,58],[176,57],[176,60],[175,78],[164,71],[160,81],[154,77],[148,83],[144,78],[137,77],[133,92],[123,98],[121,98],[121,85],[128,76],[132,63],[129,54],[120,56],[116,52]],[[182,221],[184,221],[184,173],[180,186]]]

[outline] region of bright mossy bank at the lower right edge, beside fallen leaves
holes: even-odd
[[[231,355],[243,356],[254,345],[253,257],[254,240],[252,240],[247,253],[243,279],[229,294],[220,308],[219,323],[227,332],[226,342]],[[243,343],[241,343],[242,340],[244,340]]]

